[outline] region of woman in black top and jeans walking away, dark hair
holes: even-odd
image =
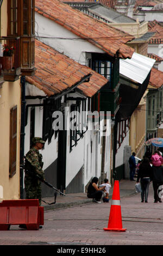
[[[148,190],[149,184],[152,181],[152,167],[148,157],[144,157],[140,166],[139,172],[137,173],[136,182],[141,184],[141,202],[148,203]]]

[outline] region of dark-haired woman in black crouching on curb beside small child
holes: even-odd
[[[103,191],[105,190],[105,186],[98,187],[97,183],[98,178],[94,177],[87,188],[87,197],[94,199],[93,201],[95,203],[101,203],[101,198],[103,195]]]

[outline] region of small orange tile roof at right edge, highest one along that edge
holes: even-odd
[[[148,31],[155,32],[148,44],[162,44],[163,43],[163,27],[156,20],[148,22]]]

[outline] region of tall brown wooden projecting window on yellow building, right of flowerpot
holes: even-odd
[[[33,75],[35,16],[34,0],[8,0],[8,36],[20,36],[20,58],[22,75]]]

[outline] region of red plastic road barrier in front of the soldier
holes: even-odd
[[[26,224],[28,230],[37,230],[43,225],[43,207],[39,206],[38,199],[3,200],[0,203],[0,230],[20,224]]]

